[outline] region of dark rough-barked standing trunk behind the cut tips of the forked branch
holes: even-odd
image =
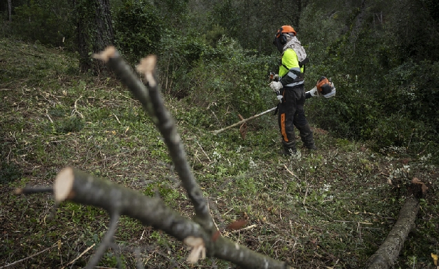
[[[105,69],[101,61],[92,61],[97,53],[114,43],[110,0],[74,0],[76,44],[81,72],[92,70],[99,74]]]

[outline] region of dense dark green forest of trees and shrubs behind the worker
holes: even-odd
[[[159,55],[163,92],[214,107],[221,124],[274,106],[272,39],[289,24],[311,60],[306,88],[325,75],[338,92],[307,103],[314,125],[376,150],[438,150],[437,1],[13,0],[0,12],[3,36],[79,52],[82,71],[101,72],[90,54],[110,43],[133,65]]]

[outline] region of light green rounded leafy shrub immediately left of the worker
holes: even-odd
[[[222,123],[234,123],[238,114],[250,117],[276,105],[267,87],[269,57],[243,50],[223,37],[206,50],[189,76],[193,78],[188,100],[209,108]]]

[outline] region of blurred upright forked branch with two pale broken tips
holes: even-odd
[[[159,83],[156,82],[156,57],[150,55],[142,59],[137,67],[137,70],[145,76],[147,88],[114,47],[108,47],[100,54],[94,55],[94,57],[105,61],[114,70],[125,86],[131,90],[134,97],[142,103],[143,108],[150,114],[156,127],[160,130],[161,135],[163,135],[176,172],[182,181],[183,188],[185,188],[189,199],[192,201],[197,221],[210,234],[216,232],[214,221],[207,207],[207,200],[203,197],[203,192],[201,192],[190,170],[183,143],[178,135],[174,120],[170,112],[163,106],[163,99],[159,92]]]

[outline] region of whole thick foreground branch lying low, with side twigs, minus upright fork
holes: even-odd
[[[33,194],[36,189],[23,188],[16,193]],[[49,189],[43,188],[43,190]],[[87,206],[96,206],[106,210],[112,217],[110,228],[103,242],[86,268],[94,268],[96,261],[99,261],[98,257],[101,257],[108,248],[114,238],[119,215],[138,219],[144,226],[163,230],[180,241],[188,238],[201,239],[203,246],[206,246],[207,256],[230,261],[243,268],[289,268],[287,263],[258,254],[225,237],[213,239],[198,223],[168,208],[160,198],[147,197],[136,190],[125,188],[112,181],[92,177],[73,168],[65,168],[59,172],[52,190],[57,203],[73,201]]]

